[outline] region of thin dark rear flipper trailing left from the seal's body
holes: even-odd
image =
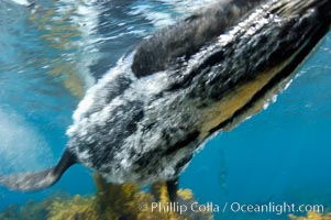
[[[76,163],[76,157],[66,150],[56,166],[36,173],[0,175],[0,185],[19,191],[34,191],[55,184],[63,173]]]

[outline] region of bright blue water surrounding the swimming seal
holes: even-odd
[[[37,170],[60,156],[84,91],[156,29],[212,0],[0,1],[0,174]],[[181,175],[199,202],[331,207],[331,35],[277,101],[210,140]],[[66,191],[92,194],[92,172],[70,168],[40,193],[0,188],[0,210]],[[79,184],[77,184],[79,183]],[[286,219],[216,213],[216,219]]]

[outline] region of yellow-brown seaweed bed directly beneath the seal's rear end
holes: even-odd
[[[107,183],[101,175],[95,175],[97,191],[91,196],[56,195],[41,202],[27,201],[24,206],[9,206],[0,212],[1,220],[184,220],[212,219],[211,212],[176,210],[154,210],[152,204],[168,206],[169,201],[165,183],[152,186],[152,194],[141,190],[135,184],[114,185]],[[189,189],[177,191],[178,205],[190,206],[196,202]]]

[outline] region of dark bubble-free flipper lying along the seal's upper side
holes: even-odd
[[[136,48],[132,70],[137,77],[172,68],[176,59],[189,59],[203,45],[229,31],[263,0],[219,1],[143,41]]]

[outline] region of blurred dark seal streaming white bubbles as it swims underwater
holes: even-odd
[[[111,183],[175,179],[206,139],[287,85],[330,23],[331,0],[233,0],[162,30],[87,91],[54,168],[0,183],[44,188],[75,163]]]

